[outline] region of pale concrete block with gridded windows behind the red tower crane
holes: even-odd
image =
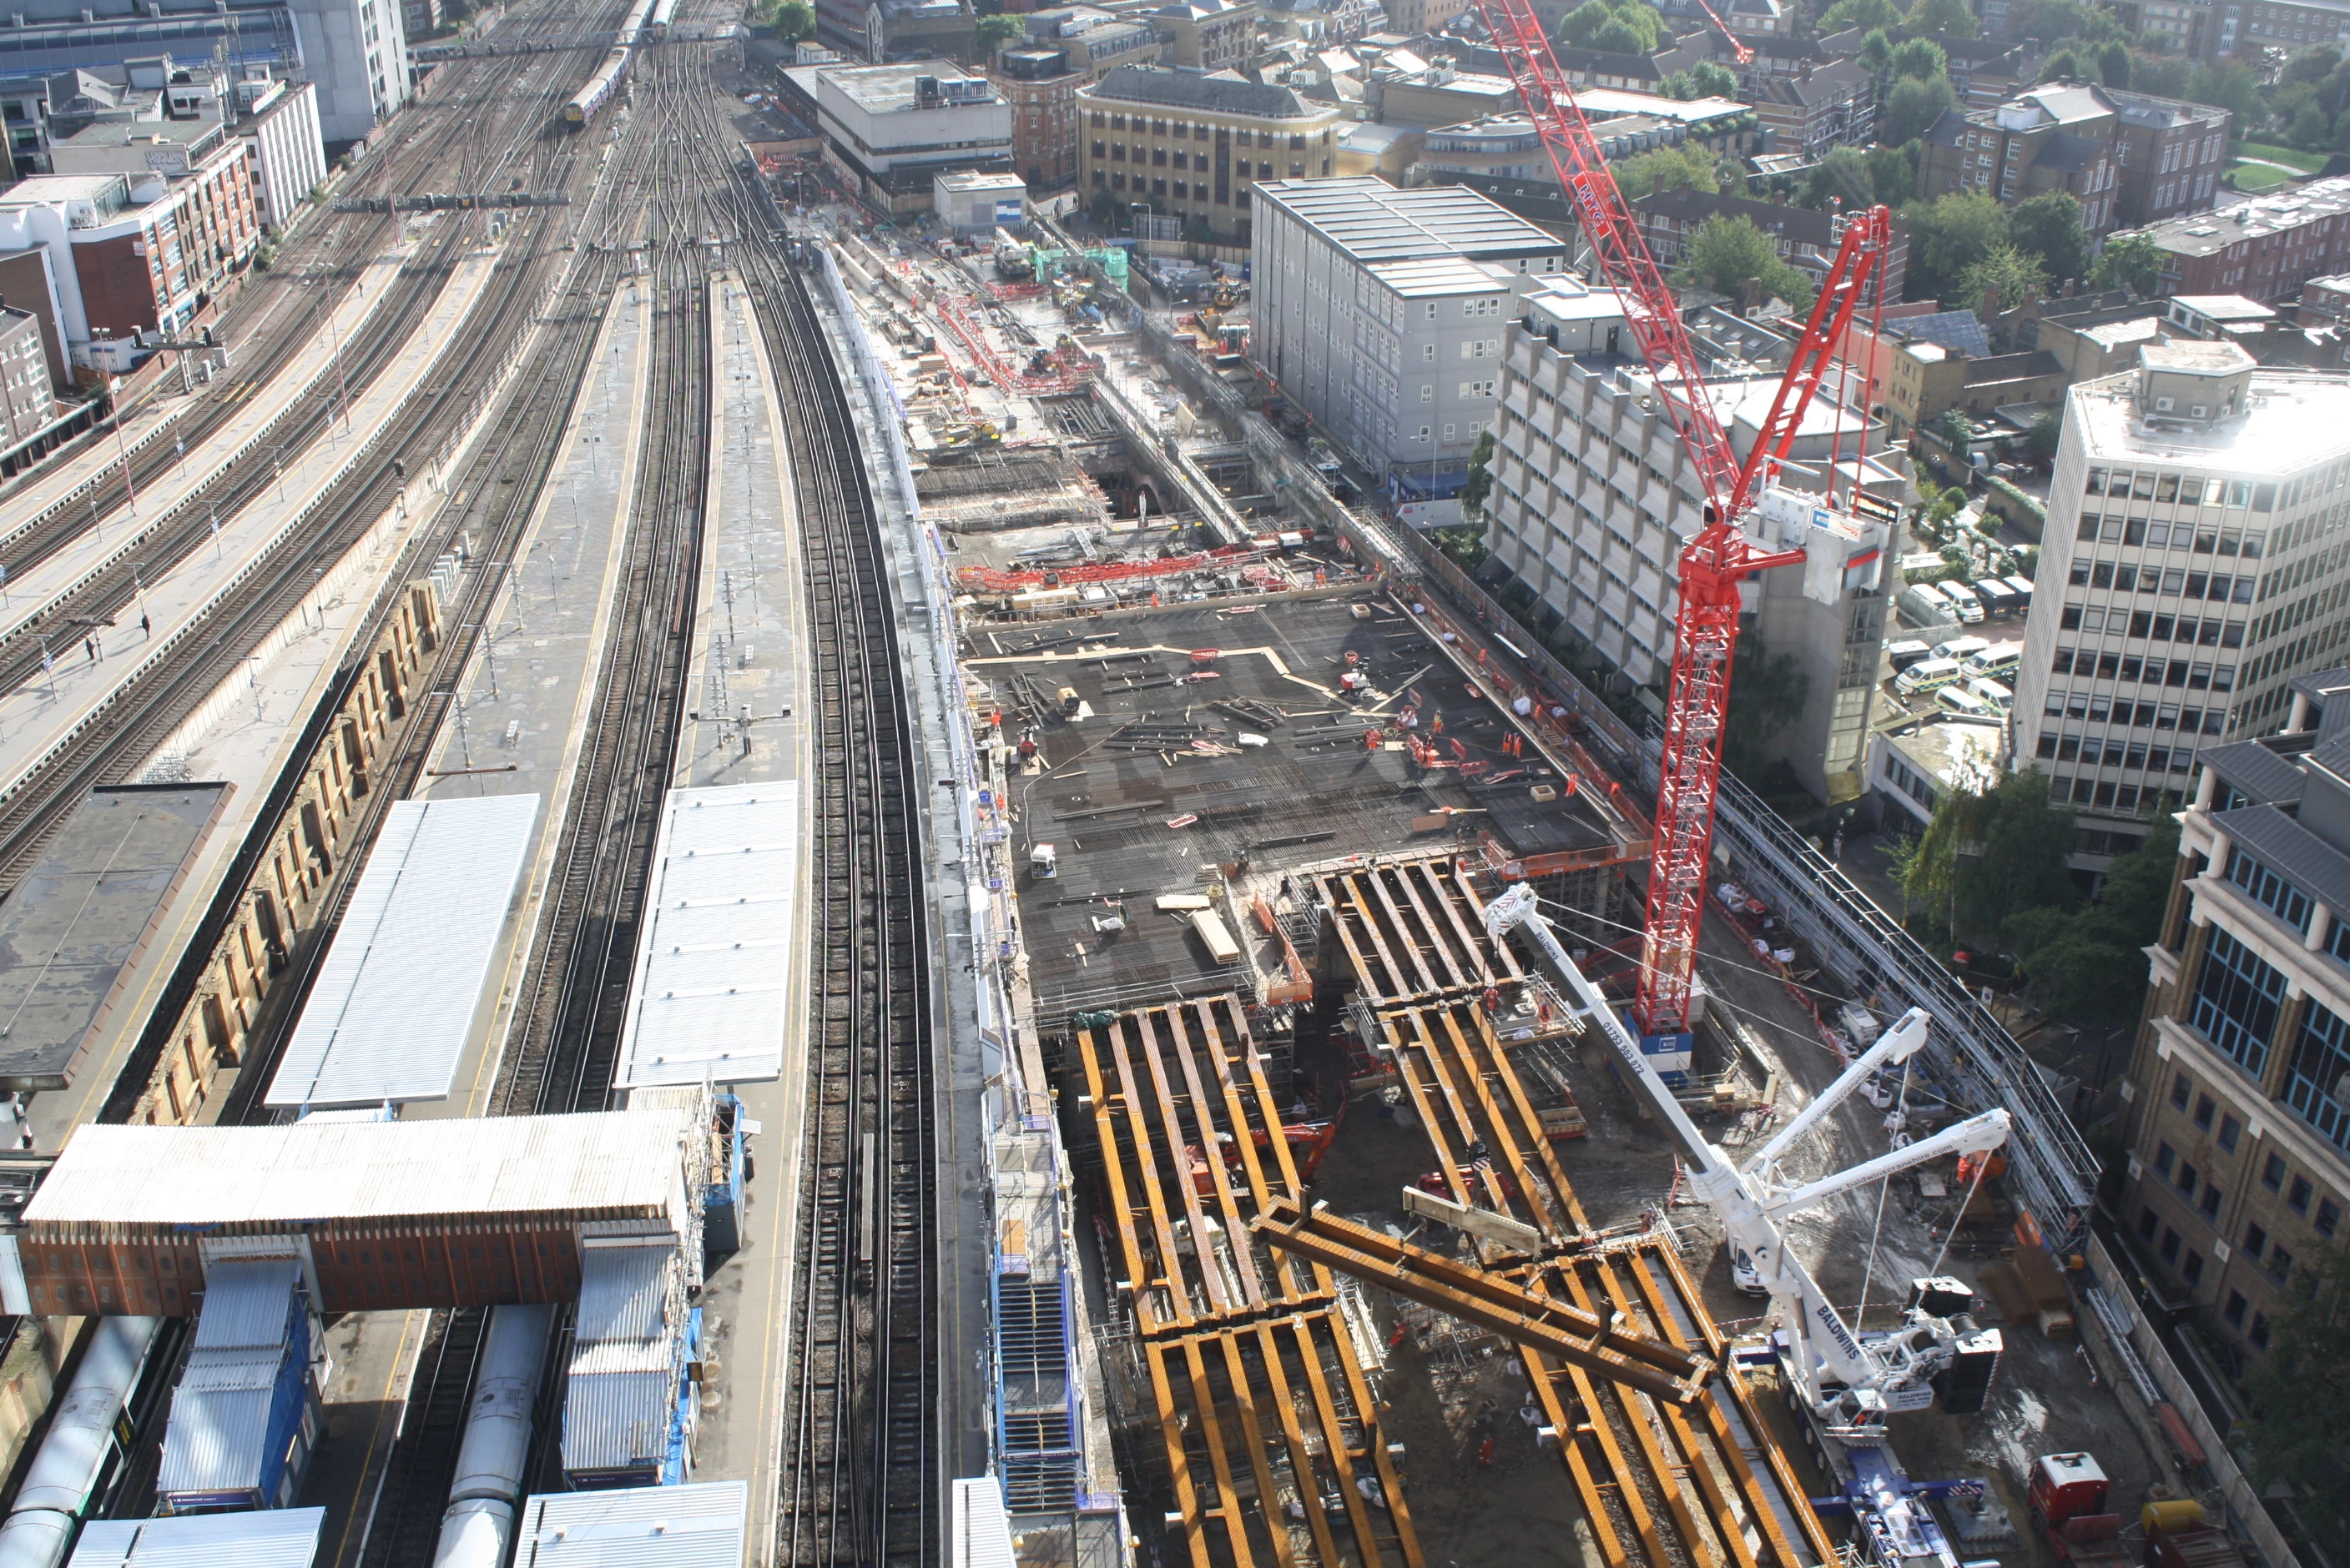
[[[1565,277],[1537,282],[1504,326],[1502,408],[1495,423],[1485,542],[1544,610],[1574,631],[1584,657],[1661,697],[1673,664],[1680,547],[1701,528],[1704,502],[1687,453],[1633,357],[1612,291]],[[1732,444],[1748,448],[1777,392],[1772,376],[1706,383]],[[1772,742],[1821,800],[1861,793],[1864,746],[1885,641],[1882,552],[1901,477],[1868,453],[1882,427],[1819,397],[1795,432],[1781,486],[1751,528],[1770,547],[1800,547],[1805,563],[1765,573],[1748,594],[1751,629],[1770,655],[1791,655],[1807,678],[1802,714]],[[1861,516],[1828,514],[1868,491]]]

